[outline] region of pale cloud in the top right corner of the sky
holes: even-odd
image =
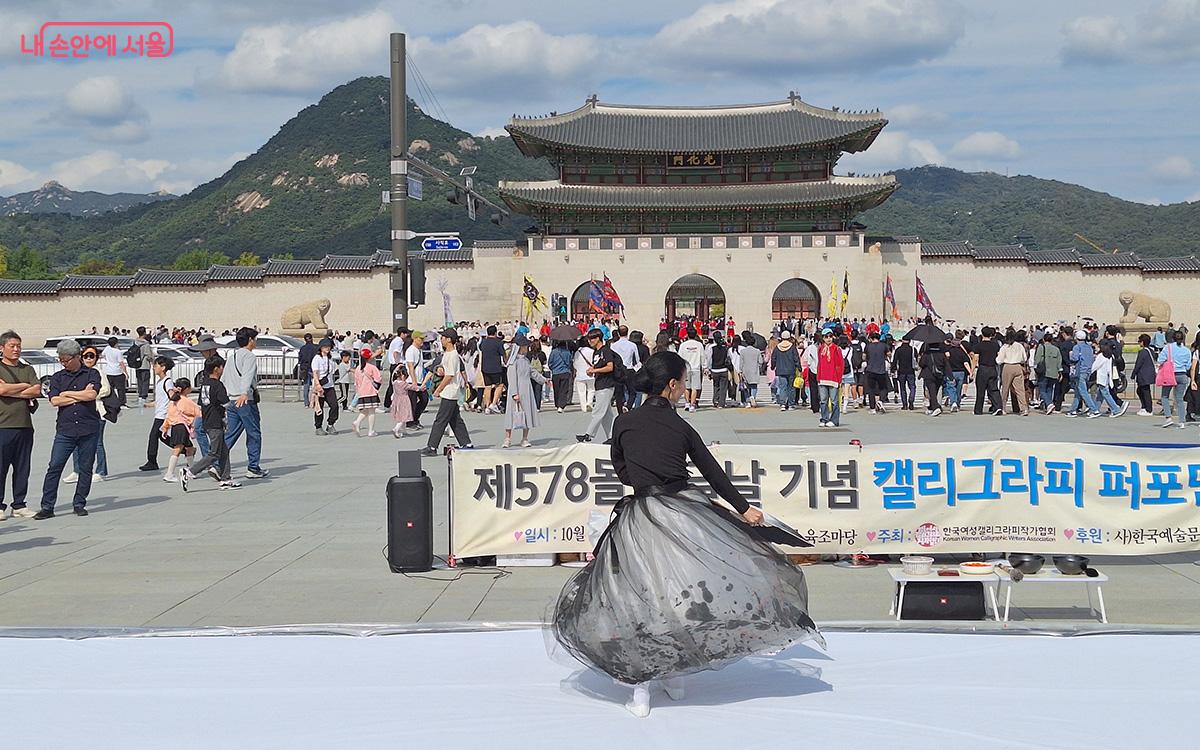
[[[1085,16],[1063,26],[1064,62],[1170,64],[1200,59],[1200,0],[1163,0],[1135,16]]]

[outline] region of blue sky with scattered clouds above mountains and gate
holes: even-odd
[[[176,52],[22,55],[20,34],[47,20],[167,20]],[[389,31],[408,34],[440,110],[473,133],[592,92],[715,104],[796,90],[890,120],[842,172],[937,163],[1200,200],[1200,0],[5,0],[0,194],[52,179],[186,192],[335,85],[386,74]]]

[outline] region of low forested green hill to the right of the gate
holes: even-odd
[[[1031,176],[1006,178],[944,167],[895,173],[898,190],[859,221],[872,234],[916,234],[925,240],[971,240],[977,245],[1032,236],[1042,250],[1091,247],[1145,256],[1200,252],[1200,202],[1171,205],[1130,203],[1078,185]]]

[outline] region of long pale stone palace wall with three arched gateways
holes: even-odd
[[[857,239],[857,238],[856,238]],[[882,253],[862,247],[730,247],[680,250],[536,250],[479,247],[472,263],[428,264],[427,304],[409,312],[414,328],[443,324],[442,286],[455,319],[521,317],[526,275],[548,299],[570,296],[593,276],[607,274],[635,328],[656,330],[667,289],[682,276],[713,278],[738,325],[769,328],[772,295],[780,283],[809,281],[826,311],[830,282],[840,290],[850,275],[851,317],[882,317],[882,284],[890,275],[900,313],[918,314],[914,277],[920,275],[938,313],[960,325],[978,323],[1075,322],[1080,316],[1115,322],[1124,289],[1165,299],[1172,319],[1200,322],[1200,275],[1144,274],[1139,269],[1092,270],[1078,265],[1026,265],[971,258],[924,258],[919,244],[890,244]],[[265,276],[258,281],[216,281],[206,286],[136,286],[127,290],[61,290],[55,295],[0,294],[0,329],[13,328],[41,344],[49,336],[92,325],[164,324],[223,330],[254,325],[280,329],[280,313],[322,298],[331,301],[329,324],[337,330],[386,330],[391,325],[388,269],[323,271],[319,276]],[[539,316],[540,317],[540,316]]]

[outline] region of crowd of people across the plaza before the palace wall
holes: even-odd
[[[1187,329],[1172,324],[1142,335],[1135,348],[1123,343],[1117,326],[1090,320],[943,330],[929,318],[893,324],[788,317],[762,332],[752,323],[737,328],[725,318],[662,318],[652,340],[613,317],[596,316],[539,324],[461,322],[432,335],[407,328],[316,341],[310,335],[298,352],[301,403],[312,410],[318,436],[336,434],[342,413],[353,412],[355,436],[377,437],[377,420],[386,416],[392,434],[404,438],[426,430],[422,418],[437,402],[426,455],[439,452],[448,431],[458,448],[474,448],[464,413],[502,419],[500,445],[508,448],[532,444],[545,409],[577,407],[587,422],[576,439],[607,442],[616,416],[641,401],[628,386],[632,373],[652,354],[670,350],[688,364],[678,404],[686,412],[809,409],[823,427],[840,426],[858,409],[923,409],[940,416],[959,412],[965,401],[976,415],[992,416],[1038,410],[1118,418],[1133,406],[1138,415],[1160,415],[1163,427],[1184,427],[1200,414],[1200,335],[1189,342]],[[245,436],[244,476],[268,476],[260,466],[258,331],[239,329],[228,348],[203,328],[94,330],[108,336],[108,346],[70,338],[58,344],[61,370],[44,388],[58,410],[55,433],[36,511],[26,506],[26,496],[32,414],[43,388],[22,360],[20,336],[0,334],[0,478],[12,476],[11,502],[0,494],[0,520],[53,517],[60,484],[74,485],[73,510],[86,515],[91,485],[108,475],[104,428],[127,408],[127,383],[136,384],[138,408],[154,408],[142,470],[162,472],[164,481],[185,491],[203,476],[223,490],[240,487],[230,449]],[[133,344],[122,350],[118,336],[133,337]],[[186,344],[203,355],[194,382],[173,377],[174,361],[155,349],[161,343]],[[166,466],[160,463],[164,448]]]

